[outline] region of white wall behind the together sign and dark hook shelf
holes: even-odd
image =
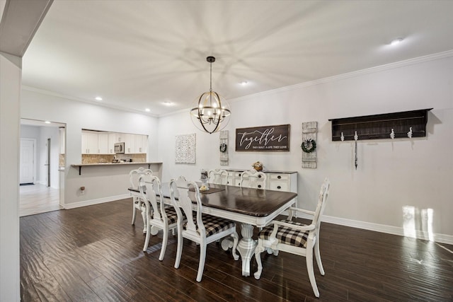
[[[453,53],[400,62],[230,100],[229,168],[298,172],[299,205],[314,209],[323,178],[331,179],[325,220],[453,243]],[[222,91],[219,91],[222,93]],[[196,92],[194,92],[196,94]],[[428,136],[359,141],[358,168],[352,142],[331,141],[329,119],[434,108]],[[302,169],[302,122],[317,121],[318,168]],[[291,124],[290,151],[234,151],[235,129]],[[196,164],[176,164],[175,136],[196,133]],[[159,119],[164,181],[199,179],[201,168],[219,168],[219,134],[198,131],[188,112]],[[432,221],[428,212],[432,209]]]

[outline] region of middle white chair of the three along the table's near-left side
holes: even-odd
[[[178,214],[173,207],[166,207],[164,202],[159,202],[162,194],[161,181],[153,175],[142,175],[139,178],[139,190],[146,207],[147,236],[144,240],[143,251],[146,252],[151,237],[151,227],[162,230],[162,247],[159,260],[164,260],[165,250],[168,242],[168,233],[178,226]],[[183,217],[184,220],[184,217]]]

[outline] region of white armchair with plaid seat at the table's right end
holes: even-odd
[[[321,254],[319,252],[319,229],[321,228],[321,216],[326,206],[330,182],[326,178],[319,192],[318,204],[315,211],[307,211],[295,207],[289,207],[289,216],[285,220],[274,220],[268,226],[265,226],[258,233],[258,245],[255,250],[255,258],[258,264],[258,270],[255,273],[255,278],[260,279],[263,272],[261,263],[261,252],[268,250],[268,253],[278,255],[279,251],[289,252],[294,255],[305,257],[306,270],[309,274],[311,288],[314,295],[319,297],[318,286],[313,269],[313,252],[318,264],[319,272],[324,275],[324,268],[321,262]],[[312,216],[313,219],[309,225],[293,221],[293,217],[297,213],[304,213]],[[294,264],[295,265],[295,264]],[[292,268],[294,268],[292,265]],[[285,269],[285,267],[283,267]],[[273,272],[275,273],[275,272]]]

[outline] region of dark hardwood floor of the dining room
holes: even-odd
[[[198,283],[197,245],[185,241],[175,269],[176,237],[160,262],[161,233],[142,252],[143,222],[131,216],[122,199],[21,217],[22,301],[453,301],[452,245],[321,223],[316,298],[304,257],[263,253],[256,280],[218,243]]]

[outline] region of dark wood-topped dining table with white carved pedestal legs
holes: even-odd
[[[202,212],[241,223],[241,240],[237,250],[242,259],[242,275],[250,276],[250,261],[256,248],[253,227],[268,225],[276,216],[294,204],[297,193],[211,183],[208,186],[210,190],[200,192]],[[140,196],[138,189],[129,188],[128,190],[132,196]],[[164,199],[171,203],[168,183],[162,184],[162,194]],[[189,197],[195,201],[195,192],[189,192]],[[222,247],[224,245],[225,243],[222,243]]]

